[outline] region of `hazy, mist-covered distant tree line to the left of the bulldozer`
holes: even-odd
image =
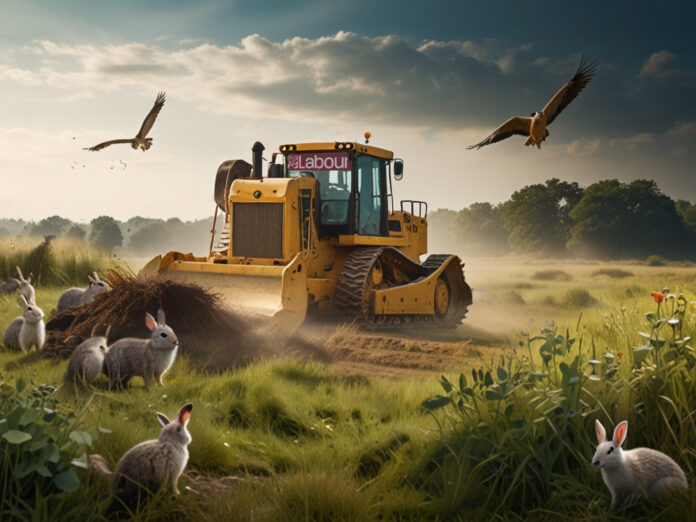
[[[212,222],[212,217],[181,221],[179,218],[164,220],[135,216],[127,221],[119,221],[111,216],[99,216],[89,223],[76,223],[57,215],[35,222],[0,219],[0,239],[55,236],[101,250],[121,249],[142,256],[168,250],[200,254],[208,251]]]

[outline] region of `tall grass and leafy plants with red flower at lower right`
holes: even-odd
[[[457,379],[443,376],[444,394],[424,402],[440,443],[417,479],[436,513],[599,516],[609,493],[590,463],[595,418],[609,426],[628,420],[629,448],[664,451],[695,476],[696,315],[687,298],[671,296],[641,319],[614,323],[617,340],[628,327],[642,332],[641,346],[598,348],[579,327],[571,334],[551,326],[524,338],[510,358]],[[674,520],[694,513],[693,492],[666,507],[619,511]]]

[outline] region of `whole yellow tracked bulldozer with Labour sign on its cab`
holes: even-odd
[[[472,294],[459,257],[420,262],[427,203],[394,209],[402,160],[367,143],[293,143],[273,154],[264,177],[263,151],[256,142],[253,164],[218,169],[208,255],[169,252],[145,275],[197,283],[286,332],[322,313],[372,326],[461,322]]]

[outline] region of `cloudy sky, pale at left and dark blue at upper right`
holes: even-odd
[[[193,219],[217,166],[262,141],[357,140],[405,161],[397,199],[498,202],[550,177],[656,179],[696,201],[696,4],[683,2],[2,0],[0,217]],[[466,150],[573,75],[550,127]],[[82,150],[134,136],[143,153]]]

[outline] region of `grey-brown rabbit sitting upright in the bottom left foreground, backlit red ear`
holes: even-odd
[[[186,429],[193,405],[185,404],[176,419],[170,421],[157,413],[162,425],[159,438],[141,442],[119,459],[113,472],[101,455],[90,455],[91,468],[111,480],[111,492],[129,507],[134,507],[144,494],[155,493],[163,486],[179,494],[177,482],[186,468],[191,434]]]

